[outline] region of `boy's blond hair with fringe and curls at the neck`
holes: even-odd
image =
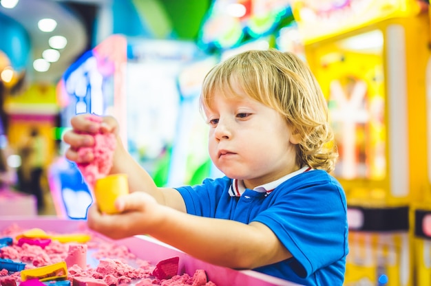
[[[229,89],[233,93],[232,78],[251,98],[280,112],[293,133],[299,133],[299,166],[328,172],[335,168],[338,153],[328,122],[328,105],[304,61],[278,50],[251,50],[231,56],[204,78],[200,108],[211,107],[215,91]]]

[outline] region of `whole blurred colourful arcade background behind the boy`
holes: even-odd
[[[346,285],[431,285],[426,0],[0,0],[0,215],[85,219],[63,153],[77,113],[115,115],[158,186],[220,176],[204,75],[244,50],[294,52],[330,109],[348,199]],[[318,226],[317,226],[318,228]]]

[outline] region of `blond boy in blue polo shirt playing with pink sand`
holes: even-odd
[[[302,285],[342,285],[348,253],[346,198],[333,170],[337,151],[322,91],[294,54],[249,51],[211,69],[201,109],[209,155],[225,177],[198,186],[158,188],[117,135],[114,173],[127,173],[131,194],[119,214],[90,207],[90,228],[113,239],[149,234],[198,259],[252,269]],[[92,146],[92,133],[118,133],[78,115],[66,157]],[[86,134],[87,133],[87,134]]]

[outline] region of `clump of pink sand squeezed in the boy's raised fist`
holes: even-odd
[[[102,122],[102,118],[97,115],[88,115],[87,119],[94,122]],[[105,177],[112,167],[112,156],[116,147],[116,138],[113,133],[96,133],[94,136],[94,146],[79,148],[78,154],[85,155],[88,152],[94,154],[94,160],[90,164],[77,164],[78,169],[83,174],[85,181],[91,189],[97,179]]]

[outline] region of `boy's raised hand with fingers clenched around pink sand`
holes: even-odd
[[[88,163],[94,159],[92,153],[78,153],[81,147],[94,146],[94,133],[118,133],[118,122],[112,116],[101,117],[85,113],[74,116],[70,123],[72,129],[63,135],[63,141],[70,145],[65,157],[76,163]]]

